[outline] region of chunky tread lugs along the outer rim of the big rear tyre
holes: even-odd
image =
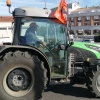
[[[43,77],[44,78],[44,85],[43,85],[43,88],[41,88],[41,90],[43,90],[44,87],[46,87],[47,81],[48,81],[47,69],[44,67],[44,62],[42,60],[40,60],[38,56],[34,56],[30,52],[27,52],[27,51],[24,51],[24,52],[20,51],[20,50],[16,50],[14,52],[9,51],[8,53],[6,53],[4,56],[2,56],[0,58],[0,64],[3,64],[5,62],[5,60],[7,61],[7,60],[10,60],[10,59],[13,59],[13,58],[20,58],[20,57],[25,57],[27,59],[33,58],[34,62],[38,65],[37,67],[40,70],[42,70],[41,72],[43,72],[43,75],[44,75],[44,77]],[[39,97],[40,97],[41,94],[42,93],[39,93]],[[8,100],[9,100],[9,98],[8,98]]]

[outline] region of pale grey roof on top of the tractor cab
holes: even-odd
[[[14,16],[31,16],[31,17],[50,17],[53,16],[54,11],[50,9],[35,8],[35,7],[20,7],[14,9]]]

